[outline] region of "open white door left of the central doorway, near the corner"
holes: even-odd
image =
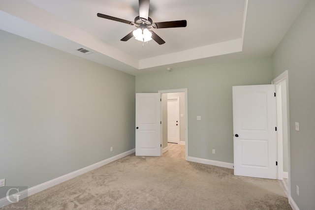
[[[136,93],[136,156],[161,156],[160,100],[160,93]]]

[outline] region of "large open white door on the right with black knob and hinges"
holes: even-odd
[[[233,87],[234,175],[277,178],[274,85]]]

